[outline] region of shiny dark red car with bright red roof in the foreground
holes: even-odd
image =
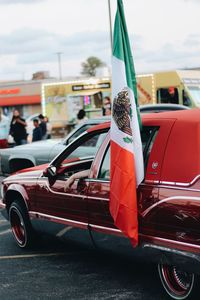
[[[145,178],[137,191],[136,249],[109,212],[109,123],[87,129],[48,166],[4,179],[0,207],[21,248],[31,245],[35,232],[66,232],[66,238],[98,248],[139,251],[158,264],[171,299],[191,299],[199,291],[200,274],[200,111],[144,114],[142,123]],[[75,158],[80,147],[98,140],[103,142],[95,156]],[[89,176],[66,189],[69,176],[82,170]]]

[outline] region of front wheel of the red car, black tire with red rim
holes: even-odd
[[[9,220],[17,245],[20,248],[30,248],[34,242],[34,232],[24,205],[13,202],[9,209]]]

